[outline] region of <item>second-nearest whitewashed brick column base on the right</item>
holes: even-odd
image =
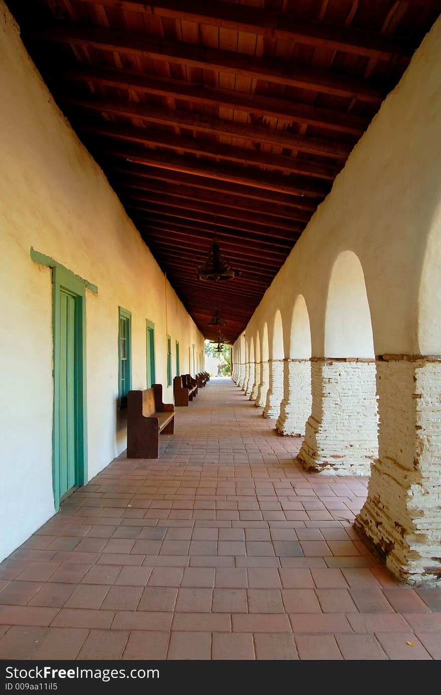
[[[369,475],[378,456],[375,362],[311,359],[313,406],[299,459],[328,475]]]

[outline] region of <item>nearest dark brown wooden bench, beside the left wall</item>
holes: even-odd
[[[159,434],[174,433],[174,405],[163,403],[163,385],[127,394],[127,457],[157,459]]]

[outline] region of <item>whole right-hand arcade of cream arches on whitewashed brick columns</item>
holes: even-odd
[[[441,582],[440,72],[438,22],[233,345],[305,468],[370,475],[356,529],[409,584]]]

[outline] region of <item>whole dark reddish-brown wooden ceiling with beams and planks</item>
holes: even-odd
[[[440,0],[6,0],[56,101],[201,332],[229,341]],[[217,234],[242,275],[196,279]]]

